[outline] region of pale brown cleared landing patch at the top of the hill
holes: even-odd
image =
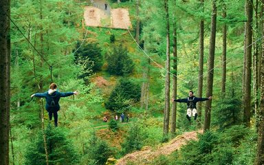
[[[131,28],[129,10],[127,8],[104,8],[104,0],[92,1],[93,6],[85,6],[85,25],[92,27],[127,29]]]

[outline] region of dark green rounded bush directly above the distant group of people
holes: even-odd
[[[127,78],[120,79],[120,83],[111,91],[105,107],[118,113],[124,112],[129,104],[140,100],[140,86]]]

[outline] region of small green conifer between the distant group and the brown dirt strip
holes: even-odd
[[[124,143],[121,144],[122,146],[122,155],[126,153],[131,153],[132,151],[140,150],[143,146],[144,135],[142,134],[142,129],[140,128],[139,124],[133,124],[125,139]]]

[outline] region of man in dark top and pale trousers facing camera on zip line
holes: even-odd
[[[190,117],[194,116],[195,120],[198,116],[197,114],[197,108],[196,108],[196,103],[199,101],[206,101],[206,100],[211,100],[212,96],[209,98],[197,98],[193,96],[193,91],[189,91],[189,97],[188,98],[181,98],[181,99],[175,99],[172,98],[173,102],[186,102],[187,103],[187,114],[186,118],[190,121]]]

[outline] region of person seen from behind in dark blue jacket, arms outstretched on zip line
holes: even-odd
[[[57,91],[57,85],[55,83],[52,83],[48,91],[44,93],[32,94],[31,98],[35,96],[37,98],[46,99],[45,109],[49,113],[50,120],[52,120],[52,114],[54,115],[55,126],[58,126],[58,111],[60,110],[60,104],[58,104],[58,102],[60,98],[72,95],[78,95],[78,92],[59,92]]]

